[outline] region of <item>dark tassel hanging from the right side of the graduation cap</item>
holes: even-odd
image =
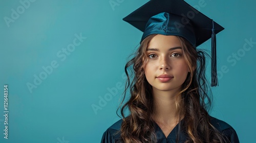
[[[211,34],[211,86],[219,86],[217,75],[217,55],[216,55],[216,34],[214,29],[214,20],[212,20]]]

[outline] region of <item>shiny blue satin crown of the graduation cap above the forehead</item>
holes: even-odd
[[[141,41],[151,34],[176,35],[185,38],[191,43],[191,45],[196,47],[194,28],[190,22],[186,22],[186,25],[184,26],[184,21],[189,20],[186,17],[167,12],[162,12],[152,16],[146,23]]]

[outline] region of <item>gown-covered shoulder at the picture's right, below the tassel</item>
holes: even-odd
[[[225,138],[230,142],[239,142],[236,130],[233,129],[229,124],[221,121],[215,117],[211,118],[211,125],[214,126],[218,131],[220,131]]]

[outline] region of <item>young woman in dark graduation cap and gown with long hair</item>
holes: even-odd
[[[122,120],[104,132],[101,142],[239,142],[231,126],[207,112],[205,53],[196,49],[212,38],[216,86],[215,31],[223,28],[199,12],[181,16],[193,11],[198,12],[184,1],[152,0],[124,18],[144,33],[125,66],[124,99],[127,92],[131,96],[121,108]]]

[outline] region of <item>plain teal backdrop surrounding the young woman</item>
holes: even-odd
[[[201,1],[186,0],[192,6]],[[0,142],[100,142],[103,132],[119,120],[124,65],[142,36],[122,18],[147,1],[26,1],[30,6],[8,27],[4,17],[11,18],[12,9],[22,11],[21,2],[25,0],[0,1]],[[256,41],[255,4],[205,0],[200,8],[225,28],[217,35],[217,53],[218,70],[226,69],[219,72],[219,87],[212,88],[210,114],[236,129],[240,142],[254,142],[256,135],[256,44],[242,53],[245,39]],[[87,38],[66,59],[58,57],[75,34]],[[208,49],[210,41],[200,47]],[[238,59],[227,60],[238,52]],[[30,92],[27,83],[34,84],[34,75],[52,61],[58,67]],[[8,139],[3,134],[5,84]],[[105,102],[100,100],[104,96]]]

